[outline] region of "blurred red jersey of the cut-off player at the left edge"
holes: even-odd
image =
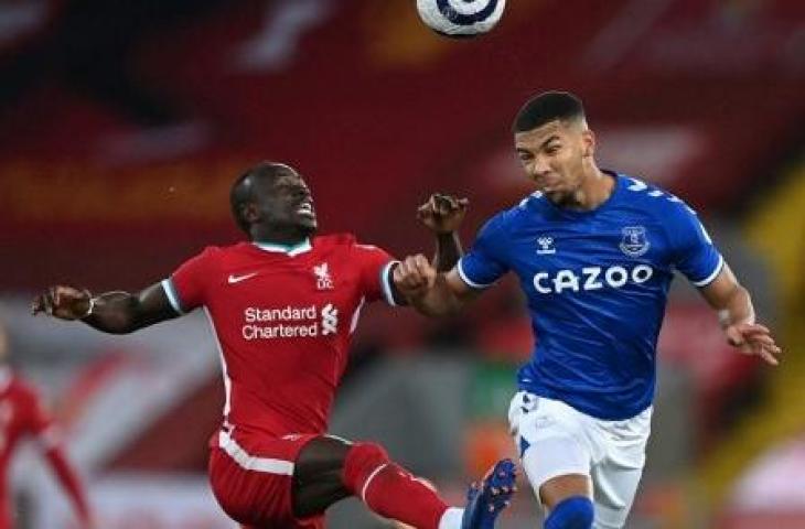
[[[36,392],[9,368],[0,368],[0,528],[10,527],[6,483],[9,463],[20,440],[28,435],[37,438],[45,451],[57,445],[53,421]]]

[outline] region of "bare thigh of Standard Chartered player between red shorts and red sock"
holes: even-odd
[[[304,445],[293,472],[292,505],[299,517],[323,512],[351,493],[343,469],[352,444],[334,436],[316,438]]]

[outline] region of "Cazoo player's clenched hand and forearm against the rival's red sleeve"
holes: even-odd
[[[455,268],[437,272],[421,253],[400,261],[391,280],[406,302],[426,316],[455,314],[480,292],[464,283]]]

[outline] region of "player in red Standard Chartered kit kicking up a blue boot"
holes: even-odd
[[[204,307],[226,395],[210,478],[222,508],[246,528],[320,528],[324,510],[348,496],[417,528],[494,527],[514,489],[511,461],[498,462],[459,509],[382,446],[326,435],[361,309],[401,299],[391,279],[397,261],[352,235],[314,237],[313,198],[288,165],[249,169],[233,184],[230,205],[248,241],[207,247],[137,294],[51,288],[33,313],[124,334]],[[461,253],[453,234],[465,208],[434,196],[419,210],[437,234],[439,269]]]

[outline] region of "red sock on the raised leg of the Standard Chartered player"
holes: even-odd
[[[372,511],[418,529],[438,529],[447,504],[393,463],[382,446],[356,443],[344,462],[344,485]]]

